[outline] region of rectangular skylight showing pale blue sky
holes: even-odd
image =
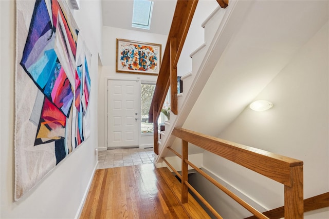
[[[132,27],[150,30],[153,2],[134,0]]]

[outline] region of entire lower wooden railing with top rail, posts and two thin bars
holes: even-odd
[[[250,206],[240,197],[228,190],[225,186],[215,181],[211,176],[201,169],[197,168],[188,160],[188,144],[203,148],[218,156],[224,157],[240,166],[248,168],[254,172],[260,173],[272,180],[284,185],[284,218],[300,219],[303,218],[303,162],[294,158],[278,155],[257,148],[236,144],[225,141],[220,138],[204,135],[183,128],[175,128],[172,132],[176,137],[182,140],[182,152],[179,154],[172,148],[170,151],[179,156],[182,160],[181,175],[170,165],[165,157],[162,160],[171,168],[181,179],[181,202],[188,202],[188,189],[190,189],[200,201],[217,217],[222,218],[211,205],[188,183],[188,165],[203,175],[207,180],[213,183],[217,188],[228,194],[233,200],[250,211],[257,218],[269,218],[265,214]]]

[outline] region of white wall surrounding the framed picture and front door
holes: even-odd
[[[99,75],[98,89],[98,147],[99,149],[107,148],[107,79],[130,79],[137,81],[154,81],[157,76],[142,74],[116,73],[116,39],[129,39],[147,43],[161,44],[161,52],[165,51],[167,35],[145,33],[140,31],[126,30],[115,27],[103,26],[103,58],[102,70]],[[162,56],[161,56],[162,57]],[[143,145],[153,145],[153,136],[142,136],[140,138],[140,147]]]

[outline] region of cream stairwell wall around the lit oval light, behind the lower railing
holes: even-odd
[[[264,112],[246,107],[218,136],[302,160],[304,198],[329,191],[328,48],[326,23],[255,98],[267,99],[274,106]],[[203,160],[203,168],[234,185],[265,208],[283,205],[281,184],[211,153],[205,152]],[[232,210],[225,210],[231,204],[218,204],[218,195],[221,194],[211,190],[206,198],[219,212],[224,212],[224,218],[234,218]],[[238,210],[235,213],[250,215]],[[305,218],[329,218],[329,208],[305,213]]]

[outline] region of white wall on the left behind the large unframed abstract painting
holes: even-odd
[[[66,157],[30,192],[13,201],[14,191],[14,75],[15,1],[1,4],[1,218],[74,218],[96,167],[97,157],[97,71],[101,45],[101,2],[80,1],[74,13],[87,46],[92,52],[90,77],[90,137]],[[90,31],[92,30],[92,31]],[[101,56],[101,54],[100,54]]]

